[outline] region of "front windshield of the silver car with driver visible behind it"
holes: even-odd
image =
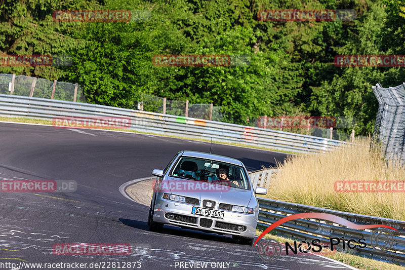
[[[244,168],[216,160],[181,157],[170,176],[250,190]]]

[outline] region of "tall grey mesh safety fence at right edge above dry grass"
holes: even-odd
[[[378,100],[374,138],[382,144],[385,158],[405,160],[405,83],[396,87],[373,86]]]

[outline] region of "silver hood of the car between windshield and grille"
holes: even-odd
[[[186,180],[174,177],[168,177],[167,181],[172,194],[192,197],[199,199],[200,201],[212,200],[217,203],[247,207],[253,194],[252,190],[233,187],[222,188],[223,185],[203,181]]]

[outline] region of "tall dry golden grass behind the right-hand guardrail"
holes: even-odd
[[[278,164],[267,198],[351,213],[405,220],[405,192],[336,192],[338,180],[400,180],[405,169],[388,163],[370,139],[320,153],[294,156]]]

